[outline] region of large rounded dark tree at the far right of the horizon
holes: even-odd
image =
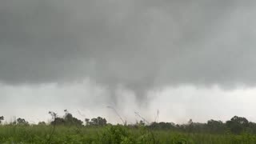
[[[226,122],[226,126],[234,134],[241,134],[249,126],[249,121],[246,118],[234,116],[230,121]]]

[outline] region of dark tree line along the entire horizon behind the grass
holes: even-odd
[[[64,116],[60,117],[56,113],[50,111],[51,122],[38,122],[38,125],[54,125],[54,126],[106,126],[112,125],[107,123],[106,118],[85,118],[84,121],[75,118],[68,110],[64,110]],[[0,124],[4,117],[0,117]],[[26,122],[24,118],[17,118],[14,122],[10,122],[5,125],[19,125],[19,126],[33,126],[29,122]],[[208,134],[242,134],[250,133],[256,134],[256,123],[249,122],[246,118],[234,116],[226,122],[210,119],[206,123],[193,122],[190,119],[186,124],[175,124],[174,122],[151,122],[146,124],[143,120],[136,122],[135,124],[130,124],[125,126],[138,128],[140,126],[145,126],[151,130],[174,130],[186,133],[208,133]]]

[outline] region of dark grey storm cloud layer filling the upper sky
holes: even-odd
[[[256,83],[254,1],[3,0],[0,79]]]

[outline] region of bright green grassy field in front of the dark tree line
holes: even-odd
[[[0,143],[177,143],[250,144],[253,134],[189,134],[150,130],[145,126],[18,126],[0,125]]]

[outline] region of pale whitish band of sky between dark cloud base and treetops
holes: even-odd
[[[246,117],[255,121],[256,88],[241,88],[237,90],[222,90],[218,86],[167,86],[162,90],[150,90],[145,103],[136,102],[132,90],[118,86],[115,90],[118,102],[111,102],[110,93],[106,87],[85,80],[73,85],[46,84],[41,86],[7,86],[2,85],[0,114],[10,122],[16,118],[26,118],[29,122],[50,120],[49,110],[62,116],[67,109],[75,117],[94,118],[102,116],[108,122],[122,123],[113,106],[128,123],[139,121],[134,114],[138,112],[149,122],[159,110],[160,121],[185,123],[190,118],[194,122],[206,122],[210,119],[226,121],[234,115]]]

